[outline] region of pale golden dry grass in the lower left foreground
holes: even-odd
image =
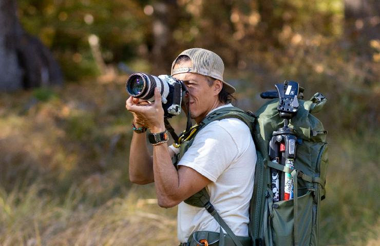
[[[39,195],[43,190],[37,182],[22,192],[1,192],[1,245],[172,245],[176,241],[175,209],[165,211],[137,197],[149,196],[151,187],[132,187],[125,197],[111,198],[98,207],[83,201],[77,187],[70,189],[64,203]]]

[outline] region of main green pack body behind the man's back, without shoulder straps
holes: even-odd
[[[313,115],[327,99],[316,93],[310,100],[299,100],[290,127],[301,142],[297,144],[294,170],[269,160],[269,141],[273,131],[283,125],[272,99],[256,112],[254,141],[256,162],[254,192],[250,204],[250,236],[253,245],[318,245],[320,201],[325,198],[328,165],[327,131]],[[291,173],[294,180],[292,200],[273,201],[270,168]]]

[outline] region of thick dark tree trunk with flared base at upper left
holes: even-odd
[[[52,54],[24,31],[15,0],[0,0],[0,90],[53,84],[62,84],[62,74]]]

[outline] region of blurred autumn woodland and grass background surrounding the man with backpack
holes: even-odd
[[[328,98],[320,245],[380,244],[377,0],[1,0],[0,244],[177,245],[176,208],[128,180],[125,80],[219,54],[235,105],[285,79]],[[177,131],[185,117],[172,123]]]

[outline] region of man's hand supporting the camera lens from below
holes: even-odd
[[[126,101],[125,108],[134,114],[135,123],[137,125],[148,128],[152,133],[165,131],[164,110],[162,108],[161,94],[158,88],[155,88],[155,101],[153,104],[147,104],[146,101],[129,97]]]

